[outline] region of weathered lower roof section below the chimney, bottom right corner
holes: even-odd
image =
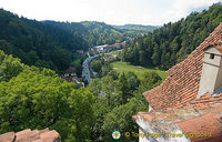
[[[171,133],[172,128],[178,125],[183,133],[209,134],[193,136],[192,142],[222,142],[222,93],[215,97],[204,94],[180,109],[139,112],[133,119],[138,120],[139,115],[163,132]]]

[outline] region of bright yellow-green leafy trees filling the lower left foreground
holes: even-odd
[[[8,64],[2,65],[4,62]],[[52,70],[23,65],[3,52],[0,68],[4,69],[0,79],[7,77],[8,81],[0,82],[0,133],[50,128],[63,141],[90,140],[93,94],[77,89],[77,84],[62,80]]]

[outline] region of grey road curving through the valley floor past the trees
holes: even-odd
[[[89,62],[97,58],[98,55],[94,55],[94,57],[89,57],[84,60],[84,62],[82,63],[82,67],[83,67],[83,70],[82,70],[82,79],[83,80],[87,80],[88,83],[91,82],[91,78],[90,78],[90,70],[89,70]]]

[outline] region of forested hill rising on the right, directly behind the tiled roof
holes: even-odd
[[[137,38],[124,50],[123,60],[138,65],[169,69],[184,60],[222,22],[222,4],[202,12],[192,12],[185,19],[164,24],[153,33]]]

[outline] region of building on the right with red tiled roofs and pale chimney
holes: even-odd
[[[140,142],[222,142],[222,23],[159,87],[143,93],[133,116]]]

